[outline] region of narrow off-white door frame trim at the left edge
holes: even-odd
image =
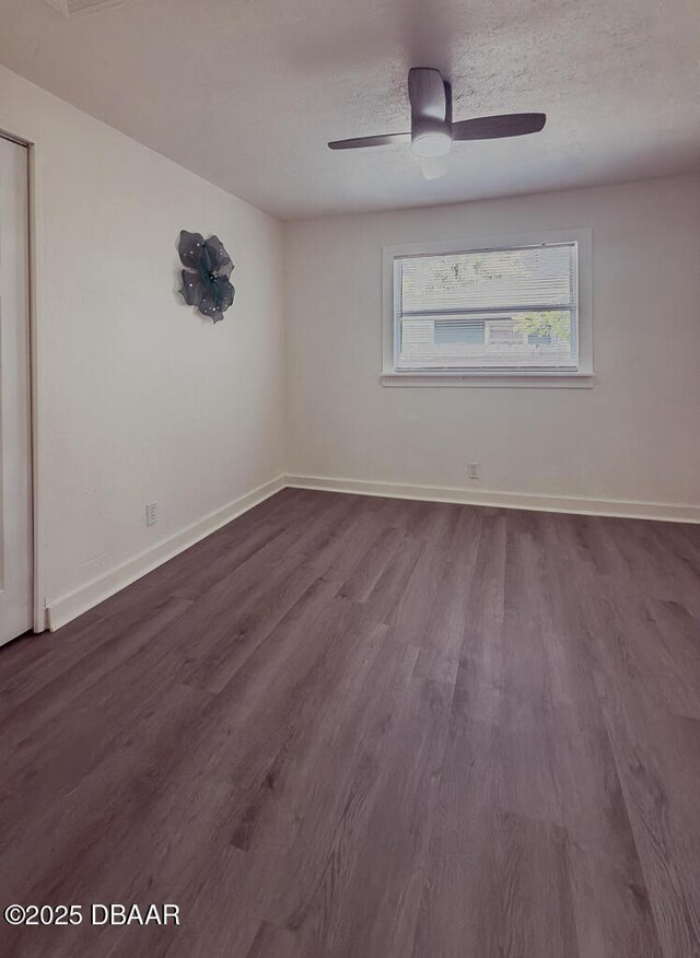
[[[43,496],[40,483],[40,451],[43,448],[43,423],[40,404],[40,324],[43,316],[43,296],[39,283],[42,274],[40,243],[40,150],[36,143],[19,133],[0,129],[0,137],[24,147],[27,151],[27,210],[28,210],[28,324],[30,324],[30,431],[31,453],[30,469],[32,472],[32,607],[34,632],[44,632],[47,627],[46,600],[44,591],[44,553],[43,545]]]

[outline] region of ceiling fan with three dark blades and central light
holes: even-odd
[[[408,98],[411,104],[410,132],[334,140],[328,145],[331,150],[357,150],[362,147],[410,143],[416,156],[433,161],[445,157],[455,141],[538,133],[547,122],[544,113],[511,113],[453,122],[452,86],[443,80],[440,70],[432,67],[413,67],[408,71]],[[439,165],[436,168],[440,171],[438,175],[446,172],[446,166],[442,168]],[[428,178],[433,178],[430,166],[424,167],[423,172]]]

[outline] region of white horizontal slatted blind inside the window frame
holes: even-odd
[[[399,372],[578,366],[578,245],[394,259]]]

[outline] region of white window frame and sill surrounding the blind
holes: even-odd
[[[395,364],[394,260],[405,256],[441,256],[517,249],[558,243],[578,244],[579,363],[572,370],[397,370]],[[425,243],[387,244],[383,247],[383,386],[515,386],[591,388],[593,372],[593,233],[590,229],[548,230],[500,236],[463,236]]]

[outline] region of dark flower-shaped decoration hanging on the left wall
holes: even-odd
[[[233,305],[235,290],[231,284],[233,262],[218,236],[205,240],[201,233],[179,234],[179,253],[183,269],[183,288],[179,291],[189,306],[214,323]]]

